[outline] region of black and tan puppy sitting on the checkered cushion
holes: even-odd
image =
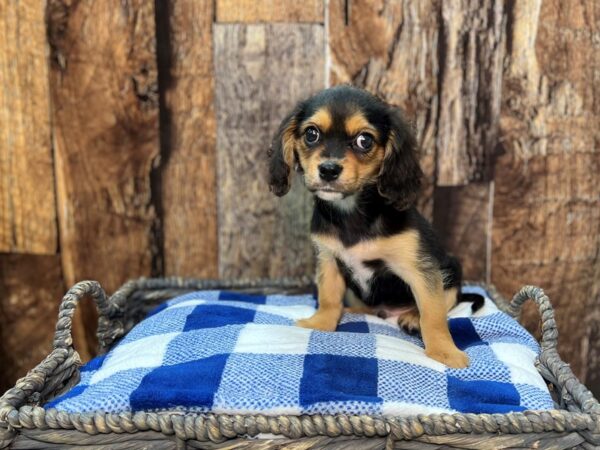
[[[428,356],[466,367],[447,322],[460,265],[414,207],[422,172],[400,110],[349,86],[321,91],[283,120],[269,156],[273,193],[288,192],[295,169],[315,195],[319,308],[298,325],[335,330],[349,289],[420,329]]]

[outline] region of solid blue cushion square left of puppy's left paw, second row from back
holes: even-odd
[[[250,323],[256,311],[228,305],[198,305],[188,315],[183,331]]]

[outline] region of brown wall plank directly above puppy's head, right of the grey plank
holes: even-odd
[[[439,4],[329,2],[331,84],[353,83],[399,105],[412,121],[425,173],[421,211],[433,216],[438,115]]]

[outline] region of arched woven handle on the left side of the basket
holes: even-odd
[[[98,309],[98,342],[101,348],[110,339],[110,320],[116,315],[116,306],[110,303],[104,289],[97,281],[80,281],[63,297],[58,310],[58,321],[54,333],[54,348],[73,349],[73,314],[82,298],[89,296]]]

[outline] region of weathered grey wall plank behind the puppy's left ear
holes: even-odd
[[[214,33],[219,275],[312,273],[312,199],[298,182],[281,199],[269,192],[266,152],[294,103],[323,87],[323,27],[216,25]]]

